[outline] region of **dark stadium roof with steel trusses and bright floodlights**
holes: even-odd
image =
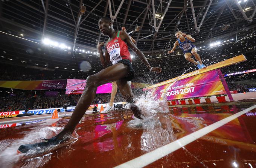
[[[112,16],[114,28],[125,26],[137,47],[157,66],[169,58],[167,51],[176,40],[176,31],[191,34],[202,52],[215,45],[228,50],[230,43],[253,39],[255,12],[253,0],[2,0],[0,60],[63,71],[82,70],[81,62],[88,61],[92,67],[88,72],[98,72],[102,66],[96,46],[108,39],[101,34],[98,20]],[[239,47],[233,49],[243,45]],[[177,48],[175,61],[169,59],[165,65],[184,66],[179,52]],[[138,68],[136,55],[134,61]]]

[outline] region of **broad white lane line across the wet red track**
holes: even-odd
[[[224,124],[227,124],[228,122],[238,118],[239,116],[247,113],[250,110],[253,110],[254,108],[256,108],[256,105],[253,105],[252,107],[240,111],[239,113],[233,114],[227,118],[217,121],[216,123],[204,127],[196,132],[190,133],[183,138],[180,138],[174,142],[157,148],[149,153],[143,154],[142,156],[136,157],[135,159],[118,165],[115,168],[142,168],[146,165],[149,165],[150,163],[153,163],[156,160],[161,159],[162,157],[172,153],[173,151],[184,147],[185,145],[195,141],[196,139],[206,135],[209,132],[212,132],[213,130],[223,126]]]

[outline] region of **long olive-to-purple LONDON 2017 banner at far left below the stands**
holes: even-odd
[[[0,87],[22,90],[65,89],[66,80],[0,81]]]

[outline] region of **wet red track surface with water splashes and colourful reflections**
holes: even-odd
[[[77,141],[74,139],[74,143],[43,156],[21,157],[16,150],[21,144],[56,135],[69,117],[0,129],[0,142],[4,146],[1,147],[0,167],[114,167],[241,111],[241,107],[235,105],[169,110],[166,101],[143,96],[138,103],[145,114],[143,120],[134,118],[130,110],[85,115],[77,126],[77,134],[73,135]],[[254,114],[256,111],[250,111],[148,167],[180,168],[188,164],[189,167],[193,164],[194,167],[212,167],[214,160],[233,158],[238,165],[241,165],[241,158],[253,160],[256,157]],[[224,151],[230,153],[223,155]],[[218,167],[230,167],[215,163]]]

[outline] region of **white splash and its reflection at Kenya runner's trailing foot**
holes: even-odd
[[[156,100],[148,92],[139,98],[137,106],[142,111],[144,118],[143,120],[135,118],[135,120],[129,121],[128,127],[143,129],[140,139],[141,150],[151,151],[177,139],[168,114],[166,95],[162,100]]]

